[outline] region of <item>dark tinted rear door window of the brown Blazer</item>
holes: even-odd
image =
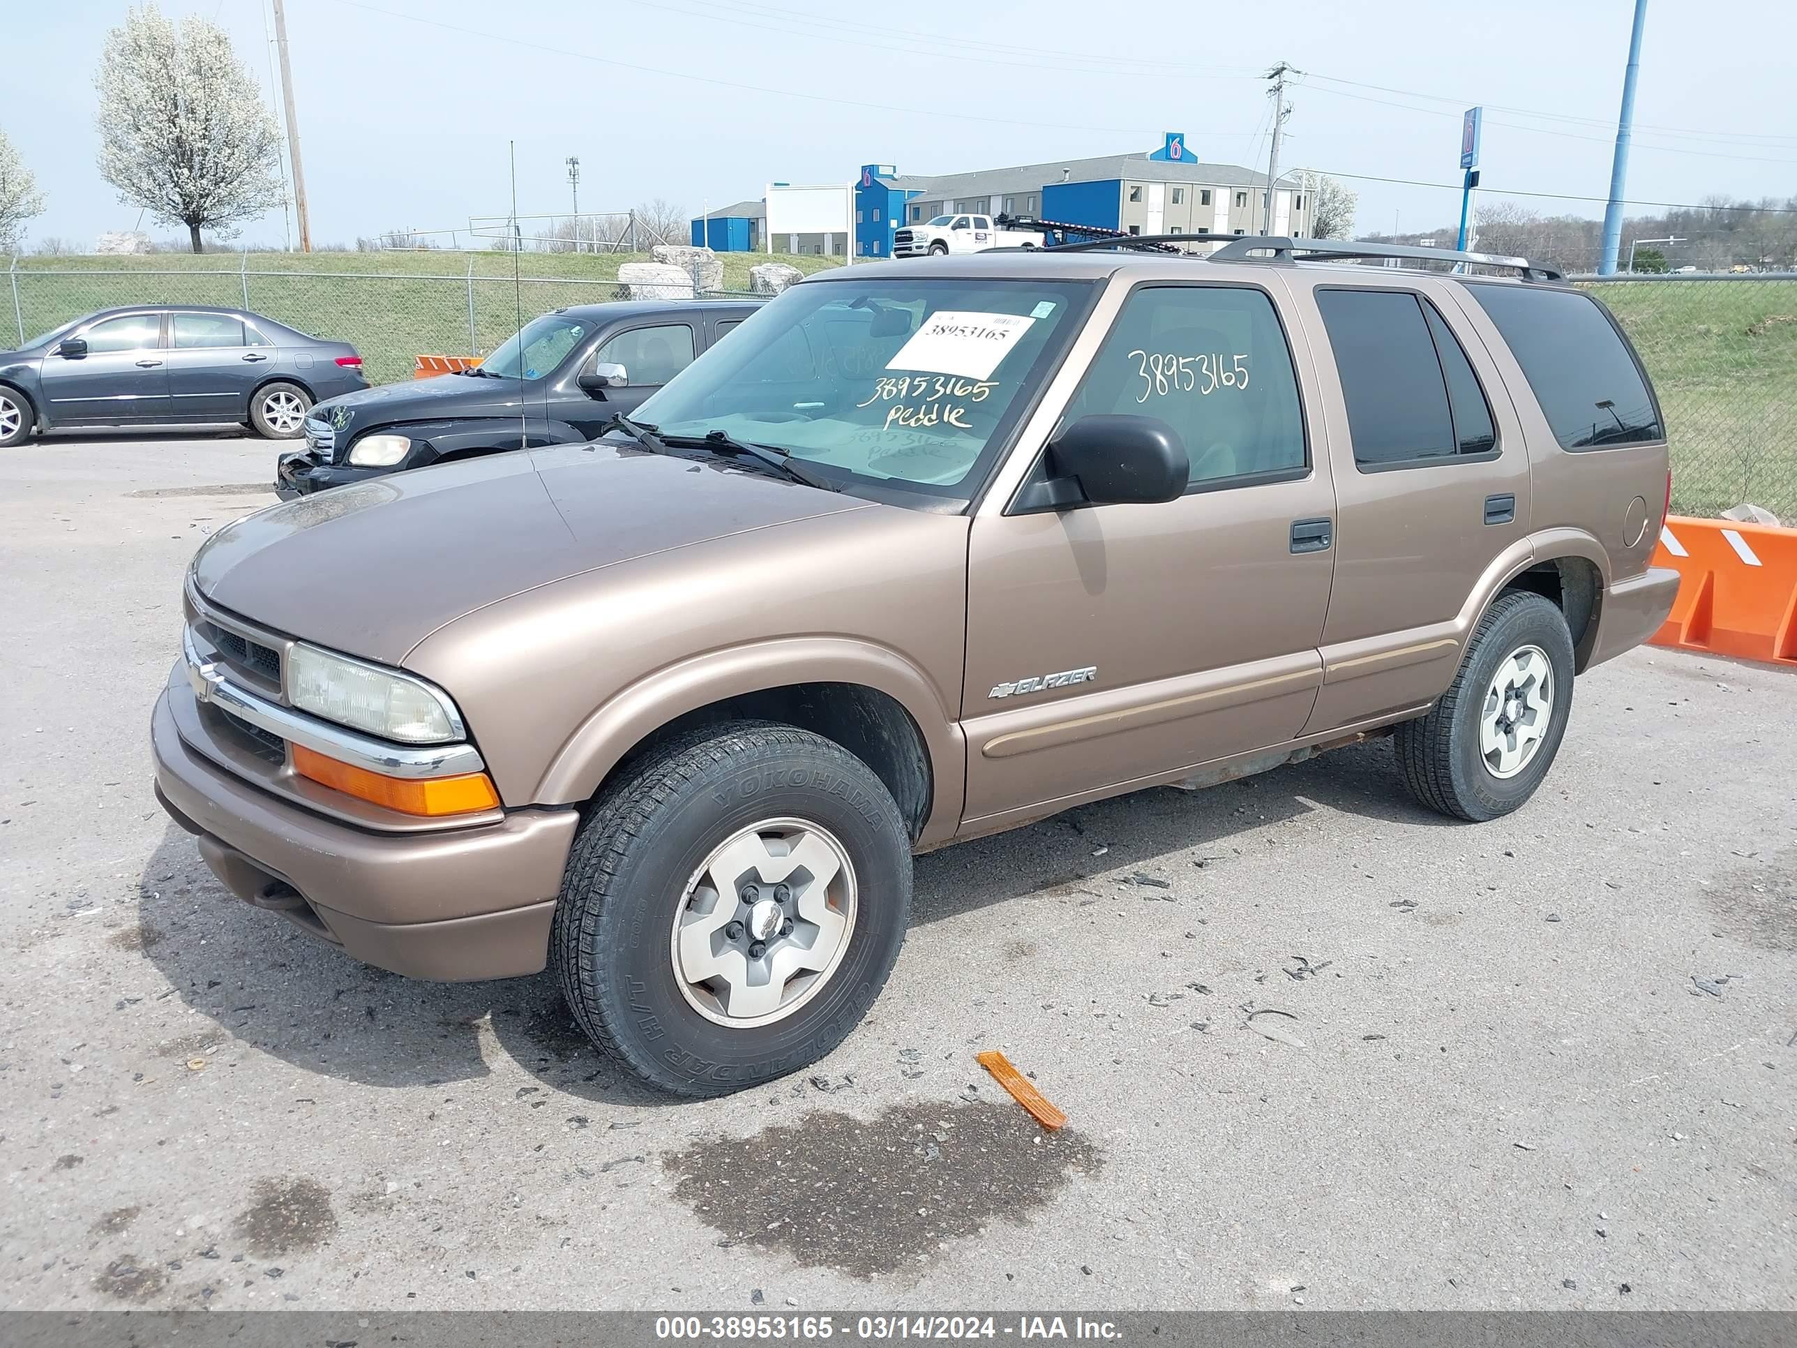
[[[1434,306],[1400,289],[1319,289],[1355,464],[1452,460],[1497,448],[1472,361]]]

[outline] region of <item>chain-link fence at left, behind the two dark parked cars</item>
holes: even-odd
[[[615,279],[453,273],[270,271],[248,262],[217,270],[102,270],[14,266],[0,304],[20,345],[95,309],[128,304],[244,307],[302,333],[349,341],[374,383],[410,379],[417,356],[485,356],[521,324],[570,304],[604,300],[735,298],[746,289],[622,284]],[[453,261],[453,259],[446,259]],[[766,298],[766,297],[755,297]],[[0,340],[0,347],[13,345]]]

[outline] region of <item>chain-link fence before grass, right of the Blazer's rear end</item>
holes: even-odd
[[[1673,510],[1750,503],[1797,525],[1797,273],[1576,284],[1610,307],[1653,376]]]

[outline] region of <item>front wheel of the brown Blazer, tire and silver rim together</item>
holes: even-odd
[[[911,839],[875,773],[792,726],[708,726],[593,805],[552,960],[600,1051],[712,1096],[836,1048],[879,996],[911,915]]]

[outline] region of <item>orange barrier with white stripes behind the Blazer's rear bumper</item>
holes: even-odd
[[[1797,665],[1797,528],[1675,514],[1653,564],[1680,575],[1653,645]]]

